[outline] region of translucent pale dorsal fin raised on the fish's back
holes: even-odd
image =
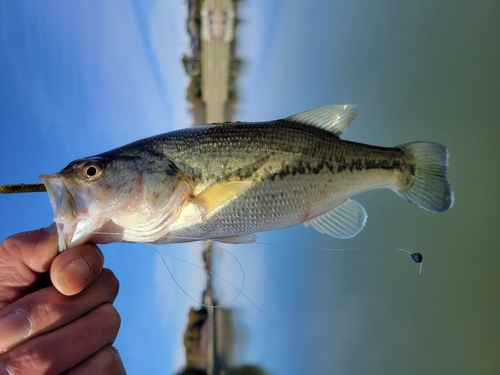
[[[327,105],[297,113],[286,120],[315,126],[340,136],[354,120],[357,111],[358,107],[351,104]]]

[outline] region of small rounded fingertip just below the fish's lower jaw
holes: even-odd
[[[50,268],[54,286],[65,295],[74,295],[91,285],[101,272],[104,258],[96,245],[87,243],[59,254]]]

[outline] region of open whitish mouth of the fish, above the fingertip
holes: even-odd
[[[66,183],[59,174],[41,175],[40,179],[47,188],[54,211],[59,251],[88,241],[103,224],[102,219],[89,215],[89,197]]]

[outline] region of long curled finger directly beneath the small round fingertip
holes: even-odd
[[[95,284],[76,296],[64,296],[54,287],[26,295],[0,310],[0,353],[54,331],[103,303],[112,303],[117,294],[118,279],[103,269]]]

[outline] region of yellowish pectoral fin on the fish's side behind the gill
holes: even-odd
[[[198,194],[191,203],[203,209],[203,216],[208,215],[252,186],[252,181],[222,181],[213,184]]]

